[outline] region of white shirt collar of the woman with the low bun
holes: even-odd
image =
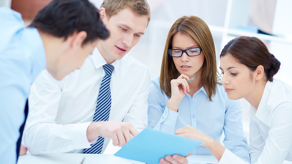
[[[270,92],[272,89],[272,82],[267,81],[266,85],[265,85],[265,89],[263,92],[263,96],[260,100],[260,103],[258,105],[258,109],[256,109],[255,107],[251,106],[250,110],[248,111],[248,116],[251,117],[252,119],[257,118],[260,121],[262,121],[264,124],[266,124],[267,126],[269,126],[268,123],[268,118],[270,115],[271,110],[269,110],[268,108],[268,101],[269,101],[269,97],[270,97]]]

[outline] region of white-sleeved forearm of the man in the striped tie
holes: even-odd
[[[41,123],[24,132],[23,141],[31,154],[66,153],[90,147],[86,130],[90,122],[58,125]]]

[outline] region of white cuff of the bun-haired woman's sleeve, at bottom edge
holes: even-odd
[[[249,164],[249,162],[243,161],[241,158],[233,154],[230,150],[225,148],[225,151],[220,158],[220,161],[218,161],[218,164],[226,163]]]

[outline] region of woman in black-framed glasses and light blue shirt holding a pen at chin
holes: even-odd
[[[176,20],[167,36],[160,76],[151,82],[148,128],[174,134],[189,125],[217,142],[224,130],[225,147],[250,162],[240,101],[227,97],[219,76],[213,37],[207,24],[196,16]],[[199,146],[192,154],[211,155],[211,152]],[[187,160],[174,155],[161,158],[160,163],[177,161]]]

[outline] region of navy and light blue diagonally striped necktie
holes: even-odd
[[[102,78],[101,81],[93,121],[108,121],[110,107],[112,104],[109,84],[112,76],[112,71],[114,70],[114,66],[110,64],[105,64],[102,67],[105,70],[105,76]],[[83,153],[100,154],[104,140],[105,138],[99,136],[97,141],[91,145],[91,148],[84,149]]]

